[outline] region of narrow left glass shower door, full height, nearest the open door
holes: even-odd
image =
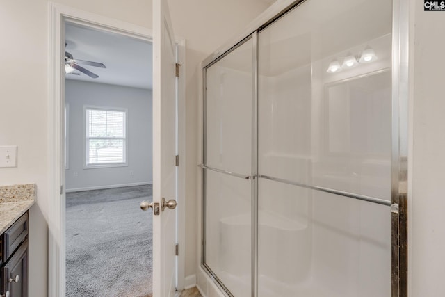
[[[206,72],[204,265],[234,296],[250,296],[252,38]]]

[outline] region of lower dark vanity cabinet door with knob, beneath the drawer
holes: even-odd
[[[10,292],[10,297],[28,296],[28,240],[1,269],[1,291]]]

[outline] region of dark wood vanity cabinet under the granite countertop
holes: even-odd
[[[0,297],[28,297],[28,213],[0,236]]]

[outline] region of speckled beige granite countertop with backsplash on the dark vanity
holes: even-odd
[[[35,202],[35,184],[0,186],[0,234]]]

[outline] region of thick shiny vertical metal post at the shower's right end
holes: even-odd
[[[391,296],[408,296],[409,3],[393,0],[391,94]]]

